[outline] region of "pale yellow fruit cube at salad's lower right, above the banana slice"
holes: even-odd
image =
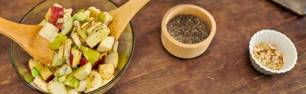
[[[110,79],[115,72],[115,65],[114,64],[99,65],[98,72],[102,79]]]

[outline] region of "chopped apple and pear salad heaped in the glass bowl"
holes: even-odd
[[[108,36],[113,17],[95,7],[80,10],[59,4],[49,7],[39,25],[39,35],[54,50],[53,61],[44,65],[30,59],[31,85],[49,93],[87,93],[107,84],[118,64],[118,41]],[[106,55],[101,53],[108,52]],[[103,56],[100,58],[100,56]]]

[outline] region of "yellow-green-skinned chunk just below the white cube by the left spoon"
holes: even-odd
[[[53,33],[49,41],[49,46],[51,50],[58,50],[62,44],[67,40],[67,36],[60,33]]]

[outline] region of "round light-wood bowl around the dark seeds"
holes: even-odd
[[[175,40],[167,31],[167,23],[177,15],[189,14],[202,19],[210,29],[210,35],[203,41],[195,44],[186,44]],[[179,5],[171,8],[162,21],[162,43],[165,49],[175,57],[190,59],[203,54],[216,33],[216,22],[213,16],[205,9],[194,5]]]

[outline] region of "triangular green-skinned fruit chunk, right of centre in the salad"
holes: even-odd
[[[99,56],[101,55],[99,52],[93,50],[93,49],[90,49],[86,46],[81,46],[81,51],[84,55],[84,57],[89,61],[91,62],[91,65],[94,64],[98,59],[99,59]]]

